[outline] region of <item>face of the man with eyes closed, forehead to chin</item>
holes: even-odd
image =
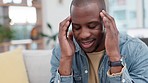
[[[103,43],[102,23],[97,4],[71,8],[72,30],[80,47],[86,52],[99,51]]]

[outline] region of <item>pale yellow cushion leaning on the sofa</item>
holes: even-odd
[[[0,83],[29,83],[20,48],[0,54]]]

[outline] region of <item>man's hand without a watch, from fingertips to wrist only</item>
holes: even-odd
[[[73,43],[73,33],[70,32],[69,36],[67,36],[70,23],[71,23],[71,18],[67,17],[59,25],[58,37],[59,37],[62,57],[72,57],[72,55],[74,55],[75,52],[75,46]]]

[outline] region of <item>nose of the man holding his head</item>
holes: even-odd
[[[81,39],[87,39],[91,36],[90,30],[88,28],[83,27],[80,34]]]

